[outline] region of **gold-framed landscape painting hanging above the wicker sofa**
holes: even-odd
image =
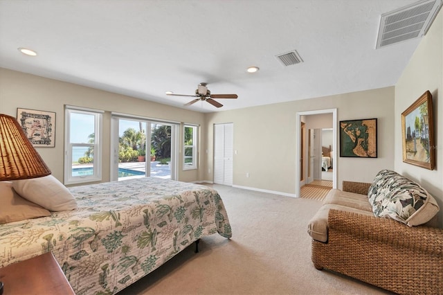
[[[435,145],[431,92],[426,91],[401,113],[403,161],[433,170]]]

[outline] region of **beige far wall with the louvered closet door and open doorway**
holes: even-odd
[[[239,98],[242,99],[242,98]],[[394,168],[394,87],[206,114],[209,130],[206,173],[213,171],[213,125],[234,123],[234,186],[295,194],[296,114],[337,109],[338,121],[378,118],[378,158],[336,159],[338,188],[343,180],[370,182]],[[337,126],[338,130],[338,126]],[[249,177],[246,177],[246,172]],[[206,179],[212,180],[208,173]]]

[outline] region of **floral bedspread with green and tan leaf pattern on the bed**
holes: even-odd
[[[147,177],[69,190],[74,211],[0,224],[0,267],[52,251],[76,294],[115,294],[204,235],[231,237],[207,186]]]

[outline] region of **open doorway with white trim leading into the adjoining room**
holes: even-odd
[[[323,164],[323,142],[322,142],[322,129],[331,129],[331,135],[332,135],[332,144],[331,147],[328,148],[328,151],[325,150],[325,152],[329,153],[329,158],[332,159],[332,163],[329,165],[331,169],[331,175],[332,175],[332,188],[337,188],[337,166],[338,161],[335,161],[337,159],[336,157],[336,145],[337,145],[337,138],[336,138],[336,126],[337,126],[337,110],[336,109],[321,109],[317,111],[301,111],[297,113],[297,127],[296,130],[298,134],[296,134],[296,159],[300,159],[300,161],[297,161],[297,167],[296,171],[298,173],[304,173],[306,177],[301,177],[300,175],[296,175],[296,179],[307,179],[307,183],[309,181],[313,181],[315,179],[322,179],[322,164]],[[322,128],[321,125],[316,124],[309,124],[306,121],[309,120],[309,116],[311,119],[315,118],[314,116],[321,115],[321,114],[329,114],[329,120],[332,122],[329,122],[328,128]],[[306,128],[309,130],[307,132],[307,140],[302,140],[302,132],[301,132],[301,126],[302,123],[305,123]],[[310,127],[309,127],[310,125]],[[331,128],[332,126],[332,128]],[[309,144],[309,147],[303,148],[302,143],[304,145]],[[329,147],[329,144],[327,144],[325,147]],[[305,151],[305,152],[304,152]],[[303,154],[303,152],[305,154]],[[305,160],[303,160],[305,159]],[[302,161],[305,161],[305,165],[302,165]],[[302,166],[306,167],[305,169],[301,169]],[[329,170],[329,169],[328,169]],[[327,171],[326,171],[327,172]],[[309,173],[309,175],[308,175]],[[305,183],[302,181],[296,181],[296,196],[300,197],[300,188]]]

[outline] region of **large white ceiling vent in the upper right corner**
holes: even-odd
[[[425,0],[381,15],[376,48],[422,37],[428,31],[442,0]]]

